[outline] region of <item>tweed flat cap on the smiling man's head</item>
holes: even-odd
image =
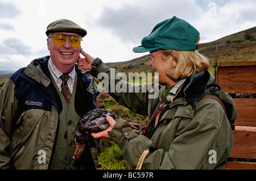
[[[50,23],[46,28],[46,35],[53,32],[72,32],[77,33],[81,37],[84,37],[87,34],[87,31],[84,28],[81,28],[76,23],[68,19],[59,19],[55,22]]]

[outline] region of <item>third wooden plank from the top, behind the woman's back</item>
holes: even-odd
[[[256,158],[256,128],[237,127],[234,131],[234,145],[230,154],[233,158]]]

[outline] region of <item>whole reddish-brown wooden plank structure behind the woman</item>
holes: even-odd
[[[256,159],[256,99],[236,98],[236,94],[256,94],[256,64],[253,62],[220,62],[217,83],[228,92],[237,108],[232,125],[234,145],[230,158]],[[228,161],[226,169],[255,169],[256,162]]]

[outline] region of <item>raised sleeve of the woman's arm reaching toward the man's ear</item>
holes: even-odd
[[[119,104],[141,115],[148,114],[148,90],[152,90],[152,84],[129,83],[118,71],[104,65],[100,58],[93,61],[92,68],[90,73],[97,76],[105,91]]]

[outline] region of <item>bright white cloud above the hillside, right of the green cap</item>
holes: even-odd
[[[209,42],[246,30],[256,25],[256,1],[226,1],[216,3],[216,15],[205,11],[196,20],[201,42]]]

